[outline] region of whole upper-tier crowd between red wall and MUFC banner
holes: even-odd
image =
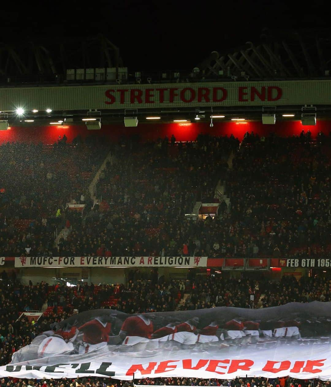
[[[204,135],[196,142],[131,141],[112,148],[3,144],[3,255],[328,257],[330,158],[322,139],[247,134],[240,148],[233,136]],[[87,181],[109,149],[113,158],[92,208]],[[226,182],[231,211],[221,200],[214,219],[187,220],[196,201],[218,200],[219,180]],[[72,200],[86,204],[84,217],[65,210]],[[54,248],[54,229],[70,225]]]

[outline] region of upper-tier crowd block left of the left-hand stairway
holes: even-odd
[[[65,135],[53,146],[2,144],[2,255],[56,254],[55,231],[66,225],[66,205],[88,203],[87,185],[105,158],[105,152],[107,148],[94,141],[82,144],[78,138],[67,144]]]

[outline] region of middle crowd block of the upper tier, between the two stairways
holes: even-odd
[[[214,198],[224,180],[232,137],[130,144],[115,150],[97,185],[100,205],[61,243],[68,255],[198,255],[184,223],[197,200]],[[212,199],[214,200],[214,199]],[[203,255],[203,251],[201,251]]]

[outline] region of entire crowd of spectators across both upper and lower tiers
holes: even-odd
[[[5,256],[57,255],[52,250],[52,229],[48,228],[57,224],[57,211],[64,213],[62,223],[72,225],[71,233],[60,240],[62,255],[326,257],[330,251],[328,146],[310,141],[309,136],[260,139],[248,134],[240,147],[234,137],[209,136],[200,136],[197,142],[164,139],[121,144],[112,149],[113,158],[97,183],[98,203],[92,208],[89,202],[83,215],[65,211],[66,203],[86,203],[86,181],[102,164],[107,146],[60,142],[53,147],[4,144],[1,148],[6,165],[17,163],[14,152],[25,157],[18,175],[10,168],[1,172],[5,190],[0,241]],[[229,167],[231,153],[234,158]],[[196,201],[215,200],[219,180],[226,181],[231,208],[220,205],[214,219],[186,221],[184,215],[192,211]],[[41,190],[34,192],[35,185]],[[24,187],[24,194],[23,189],[16,192],[14,187]],[[16,222],[26,219],[30,219],[27,228],[18,228]],[[26,246],[31,249],[26,250]],[[295,277],[271,281],[267,276],[254,280],[196,275],[179,281],[158,279],[153,270],[142,275],[133,269],[126,285],[66,286],[64,282],[50,286],[42,281],[24,286],[14,272],[10,276],[3,272],[1,279],[0,365],[10,363],[13,353],[52,328],[54,322],[87,310],[112,308],[140,314],[222,306],[266,308],[292,301],[329,301],[331,286],[322,278],[304,276],[298,281]],[[21,312],[31,310],[43,311],[43,315],[36,321],[20,317]],[[225,328],[227,323],[225,319]],[[108,378],[10,378],[3,379],[1,387],[71,387],[75,383],[83,387],[125,385]],[[317,381],[156,378],[136,383],[309,387]]]

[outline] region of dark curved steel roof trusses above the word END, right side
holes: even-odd
[[[324,77],[331,70],[331,32],[264,30],[259,42],[213,51],[198,68],[207,78],[220,74],[264,80]]]

